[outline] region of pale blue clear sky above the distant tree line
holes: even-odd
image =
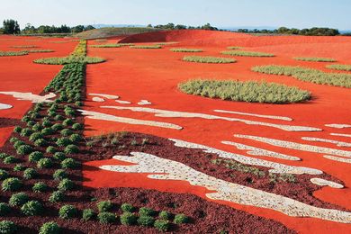
[[[351,30],[351,0],[0,0],[0,20],[21,28],[77,24],[204,23]]]

